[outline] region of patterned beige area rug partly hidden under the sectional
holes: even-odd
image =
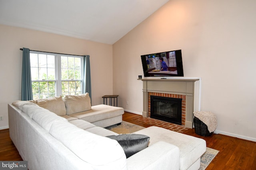
[[[112,125],[109,127],[105,127],[105,129],[108,129],[118,134],[134,133],[144,128],[145,127],[135,125],[126,121],[122,121],[121,125]],[[201,156],[199,170],[205,170],[206,167],[212,162],[214,157],[218,154],[218,152],[218,150],[206,147],[206,152],[204,152],[204,154]]]

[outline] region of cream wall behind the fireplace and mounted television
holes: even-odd
[[[216,132],[256,141],[256,1],[170,0],[113,45],[113,90],[142,113],[140,55],[182,49],[184,76],[202,78]],[[129,104],[126,104],[126,101]]]

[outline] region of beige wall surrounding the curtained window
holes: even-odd
[[[102,96],[112,94],[112,45],[0,25],[0,115],[4,116],[0,129],[8,128],[7,104],[21,99],[22,47],[90,55],[92,105],[102,104]]]

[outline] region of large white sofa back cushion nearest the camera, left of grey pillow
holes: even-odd
[[[49,133],[95,169],[126,169],[124,150],[117,141],[84,131],[68,122],[54,122]]]

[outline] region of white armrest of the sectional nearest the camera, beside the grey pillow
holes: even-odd
[[[179,148],[163,141],[126,159],[128,170],[178,170],[179,160]]]

